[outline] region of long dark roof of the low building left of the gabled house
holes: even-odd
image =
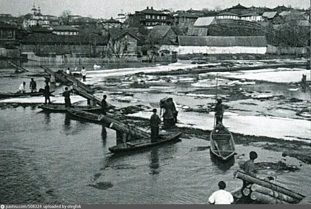
[[[108,36],[83,36],[83,35],[56,35],[56,34],[30,34],[25,39],[22,39],[22,43],[42,43],[42,44],[97,44],[105,45],[108,43]]]

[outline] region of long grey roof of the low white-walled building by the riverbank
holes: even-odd
[[[265,47],[265,36],[178,36],[180,46]]]

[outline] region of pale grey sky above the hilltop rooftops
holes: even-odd
[[[72,15],[92,16],[93,18],[116,17],[118,13],[140,11],[147,6],[156,10],[162,8],[176,10],[188,10],[190,8],[201,10],[202,8],[214,9],[220,6],[229,8],[240,3],[245,7],[270,7],[278,5],[297,8],[309,8],[310,0],[0,0],[0,13],[20,16],[30,13],[33,4],[41,7],[44,15],[60,16],[64,10],[70,10]]]

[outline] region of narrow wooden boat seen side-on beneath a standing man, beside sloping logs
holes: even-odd
[[[150,138],[145,138],[142,140],[136,140],[136,141],[131,141],[127,143],[121,143],[113,147],[109,147],[110,152],[114,153],[121,153],[121,152],[129,152],[129,151],[136,151],[136,150],[142,150],[146,148],[150,148],[153,146],[157,146],[160,144],[165,144],[165,143],[173,143],[179,140],[179,136],[182,133],[169,133],[169,134],[163,134],[159,136],[159,140],[156,142],[151,143]]]

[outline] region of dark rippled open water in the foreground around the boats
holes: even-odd
[[[228,191],[242,185],[233,179],[238,163],[212,161],[203,139],[114,156],[107,154],[113,130],[30,107],[0,110],[0,135],[1,203],[203,203],[220,180]],[[282,158],[236,145],[238,154],[251,150],[258,162]],[[310,195],[311,166],[300,168],[278,176],[278,184]]]

